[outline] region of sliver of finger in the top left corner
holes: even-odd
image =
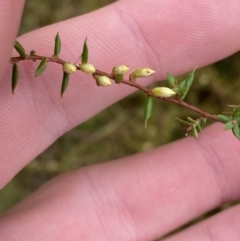
[[[9,65],[21,21],[24,0],[2,1],[0,8],[0,81]]]

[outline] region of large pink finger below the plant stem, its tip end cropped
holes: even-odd
[[[222,128],[57,177],[3,214],[0,234],[10,232],[9,240],[154,240],[240,197],[240,144]]]

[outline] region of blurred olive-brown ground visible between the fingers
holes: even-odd
[[[19,35],[111,2],[114,1],[27,0]],[[211,113],[228,110],[227,104],[240,103],[239,67],[240,53],[237,53],[197,70],[186,101]],[[179,77],[182,78],[184,76]],[[182,138],[184,131],[175,117],[196,117],[180,107],[155,101],[155,114],[145,131],[144,103],[145,95],[136,92],[59,138],[0,191],[0,212],[22,200],[44,182],[68,170],[146,151]]]

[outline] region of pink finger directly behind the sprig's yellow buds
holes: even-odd
[[[167,71],[177,75],[239,50],[239,10],[238,0],[120,1],[19,41],[27,51],[51,56],[59,31],[61,57],[75,61],[88,36],[89,61],[98,69],[110,72],[114,63],[131,69],[151,66],[157,71],[155,77],[140,80],[150,84],[163,79]],[[90,77],[75,74],[61,101],[61,68],[49,63],[46,72],[34,79],[37,64],[19,63],[20,83],[14,98],[10,68],[0,86],[0,187],[64,132],[134,91],[126,86],[98,88]]]

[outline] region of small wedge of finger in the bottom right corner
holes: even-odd
[[[238,241],[240,206],[237,205],[162,241]]]

